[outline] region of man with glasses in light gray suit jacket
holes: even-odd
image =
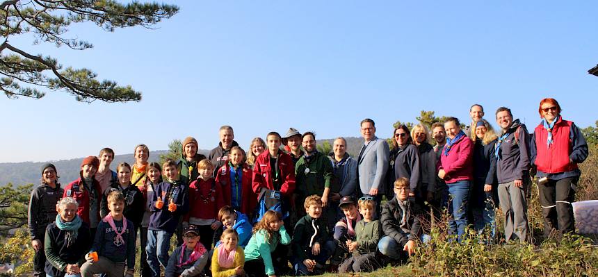
[[[357,174],[359,190],[365,198],[371,197],[376,202],[376,215],[380,217],[380,201],[384,194],[385,174],[388,170],[389,147],[386,140],[375,136],[375,123],[366,118],[361,122],[364,146],[359,151]]]

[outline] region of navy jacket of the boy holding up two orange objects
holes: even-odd
[[[163,181],[155,189],[156,191],[152,196],[152,204],[149,206],[152,215],[149,216],[149,226],[147,228],[149,230],[163,230],[171,234],[175,233],[175,229],[179,224],[179,218],[189,210],[187,183],[182,180],[177,180],[174,183]],[[164,202],[161,209],[156,208],[158,198]],[[175,212],[168,210],[168,204],[171,200],[177,205]]]

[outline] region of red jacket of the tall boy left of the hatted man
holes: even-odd
[[[291,160],[289,154],[279,150],[276,162],[279,168],[279,178],[282,181],[280,192],[284,196],[291,196],[295,191],[295,165],[293,165],[293,160]],[[253,167],[253,192],[259,194],[262,187],[275,190],[274,175],[275,171],[270,168],[270,151],[264,151],[264,153],[257,156]]]

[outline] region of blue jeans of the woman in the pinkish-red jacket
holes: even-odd
[[[458,235],[457,241],[460,242],[465,235],[467,227],[467,201],[469,200],[469,181],[458,181],[448,185],[448,211],[453,218],[448,221],[448,234]]]

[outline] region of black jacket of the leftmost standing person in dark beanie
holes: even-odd
[[[56,220],[56,215],[58,215],[56,203],[62,198],[63,193],[64,190],[60,188],[60,184],[56,183],[56,187],[52,188],[43,182],[31,191],[27,212],[31,240],[44,238],[46,226]]]

